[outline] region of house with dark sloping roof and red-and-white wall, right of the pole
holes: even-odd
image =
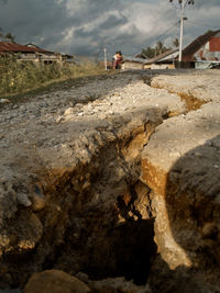
[[[220,65],[220,30],[209,31],[191,42],[182,54],[184,67],[211,68]]]

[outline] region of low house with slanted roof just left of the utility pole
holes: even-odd
[[[178,56],[178,49],[169,49],[154,58],[143,61],[144,69],[174,69],[175,59]]]

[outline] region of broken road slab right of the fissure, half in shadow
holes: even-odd
[[[207,75],[206,79],[210,77]],[[194,100],[196,95],[202,103],[211,102],[201,103],[200,109],[194,104],[194,111],[170,117],[156,128],[142,151],[141,179],[152,189],[155,241],[164,267],[183,277],[187,271],[188,279],[190,270],[195,270],[199,282],[209,288],[199,291],[195,286],[195,292],[218,292],[219,282],[215,281],[217,289],[212,289],[211,278],[219,279],[220,266],[219,95],[211,94],[210,84],[201,91],[199,82],[197,88],[195,80],[180,82],[180,77],[154,79],[155,87],[179,94],[184,91],[188,94],[185,98]],[[187,284],[188,291],[193,283]]]

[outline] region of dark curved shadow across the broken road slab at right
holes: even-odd
[[[220,292],[219,178],[220,135],[186,153],[170,169],[165,195],[169,226],[191,267],[170,270],[157,256],[148,278],[153,292]]]

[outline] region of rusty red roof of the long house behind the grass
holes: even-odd
[[[14,53],[51,53],[50,50],[45,50],[38,47],[28,47],[24,45],[15,44],[15,43],[10,43],[10,42],[0,42],[0,53],[3,52],[14,52]]]

